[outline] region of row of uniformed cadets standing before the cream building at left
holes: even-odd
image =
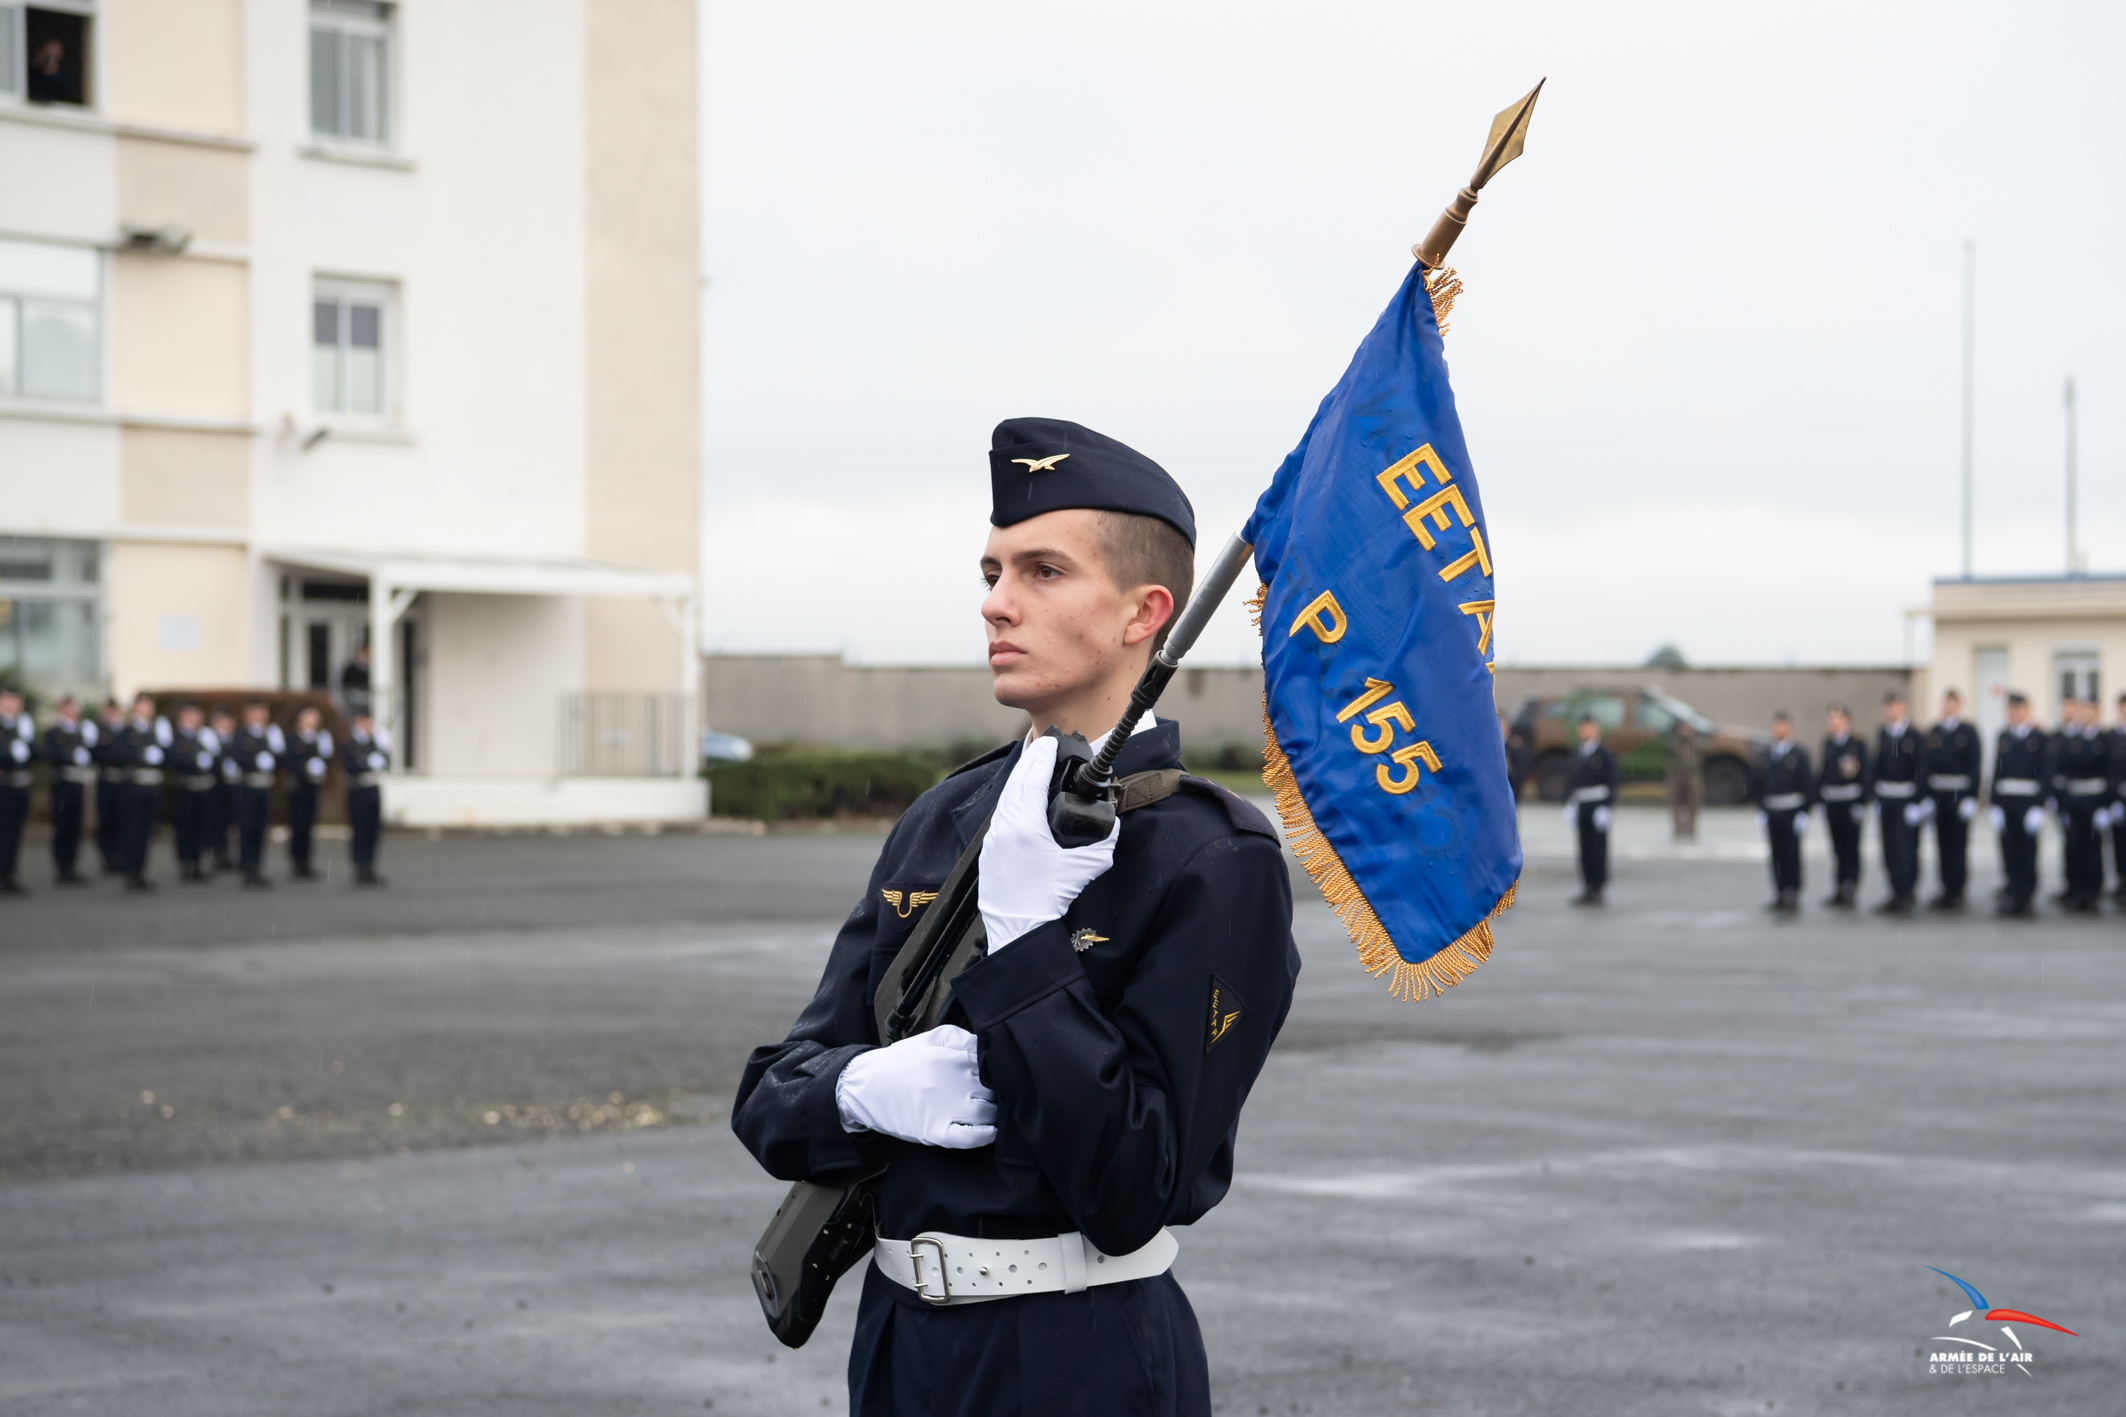
[[[121,875],[128,890],[153,890],[149,856],[164,807],[164,784],[174,784],[174,837],[179,880],[206,882],[236,869],[244,886],[264,888],[266,824],[274,782],[287,788],[293,880],[317,880],[310,843],[319,792],[338,758],[347,784],[347,820],[353,835],[355,884],[381,886],[376,839],[383,829],[381,778],[391,754],[366,712],[334,744],[319,712],[296,714],[293,731],[270,720],[266,703],[244,705],[242,722],[227,710],[206,712],[187,703],[172,724],[149,695],[125,710],[106,699],[100,718],[83,718],[72,695],[57,701],[38,735],[17,693],[0,688],[0,894],[21,894],[17,858],[30,816],[36,767],[49,771],[51,865],[60,886],[85,886],[79,869],[83,826],[94,795],[96,852],[104,875]],[[230,835],[236,854],[230,854]]]

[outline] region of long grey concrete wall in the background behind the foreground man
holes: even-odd
[[[1860,724],[1875,722],[1882,695],[1907,688],[1903,667],[1852,669],[1499,669],[1499,707],[1522,695],[1571,688],[1639,688],[1656,684],[1703,714],[1739,727],[1762,727],[1788,710],[1813,733],[1824,707],[1850,703]],[[989,695],[980,667],[844,665],[833,654],[708,654],[702,661],[708,724],[757,741],[853,744],[901,748],[955,739],[1003,741],[1025,716]],[[1254,665],[1184,667],[1159,703],[1178,718],[1193,748],[1263,746],[1263,671]]]

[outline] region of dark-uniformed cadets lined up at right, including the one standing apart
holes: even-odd
[[[1928,909],[1964,909],[1971,822],[1981,803],[2001,846],[2003,886],[1994,905],[2003,916],[2037,911],[2037,843],[2045,814],[2062,833],[2064,884],[2056,903],[2075,914],[2096,914],[2105,892],[2105,841],[2117,867],[2113,901],[2126,905],[2126,695],[2120,727],[2098,727],[2100,705],[2069,699],[2056,731],[2030,722],[2030,701],[2007,697],[2007,727],[1994,746],[1992,782],[1984,782],[1979,735],[1962,718],[1962,697],[1941,697],[1941,720],[1924,733],[1909,720],[1903,695],[1884,697],[1875,750],[1854,735],[1852,714],[1835,703],[1820,765],[1794,741],[1786,712],[1771,720],[1771,750],[1758,786],[1758,807],[1771,843],[1773,899],[1769,909],[1801,909],[1801,839],[1809,812],[1824,809],[1837,888],[1824,905],[1852,909],[1860,899],[1860,835],[1875,807],[1890,897],[1877,914],[1907,916],[1918,907],[1920,835],[1935,833],[1941,875]],[[1601,744],[1601,727],[1580,720],[1567,820],[1580,833],[1584,890],[1575,905],[1601,905],[1609,877],[1609,805],[1616,801],[1616,754]],[[1984,790],[1981,790],[1984,788]]]

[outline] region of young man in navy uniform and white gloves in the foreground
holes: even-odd
[[[1120,718],[1188,597],[1195,516],[1157,463],[1076,423],[1001,423],[989,461],[989,669],[1031,731],[899,820],[819,994],[746,1062],[731,1128],[784,1179],[887,1164],[850,1413],[1208,1415],[1165,1226],[1231,1185],[1299,973],[1290,884],[1276,829],[1193,778],[1103,841],[1050,837],[1037,735],[1103,741]],[[1180,727],[1146,714],[1116,773],[1178,769]],[[878,1047],[880,971],[984,831],[986,956],[938,1028]]]

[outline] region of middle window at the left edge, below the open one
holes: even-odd
[[[94,399],[102,385],[102,255],[0,238],[0,393]]]

